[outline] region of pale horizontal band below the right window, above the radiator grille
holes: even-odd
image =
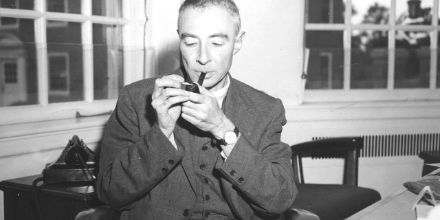
[[[286,106],[289,121],[440,118],[440,101],[305,102]]]

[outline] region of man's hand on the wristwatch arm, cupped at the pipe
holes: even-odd
[[[234,130],[234,124],[221,111],[217,99],[199,85],[200,94],[191,93],[188,102],[183,102],[181,117],[202,131],[222,139],[226,131]]]

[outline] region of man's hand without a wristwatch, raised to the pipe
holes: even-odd
[[[151,105],[155,109],[157,123],[166,137],[173,133],[181,114],[181,102],[190,99],[190,92],[180,89],[184,78],[177,75],[164,76],[155,81]]]

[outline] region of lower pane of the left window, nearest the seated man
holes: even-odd
[[[94,99],[118,98],[123,85],[122,26],[93,25]]]

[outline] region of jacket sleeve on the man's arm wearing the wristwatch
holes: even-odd
[[[216,168],[252,210],[276,215],[292,206],[298,190],[290,162],[292,150],[281,142],[282,126],[286,124],[281,100],[276,100],[271,115],[260,115],[264,116],[268,120],[263,126],[259,124],[263,127],[259,141],[252,144],[242,133],[228,159],[219,159]],[[233,194],[230,202],[235,208],[242,207],[243,200],[234,199]]]

